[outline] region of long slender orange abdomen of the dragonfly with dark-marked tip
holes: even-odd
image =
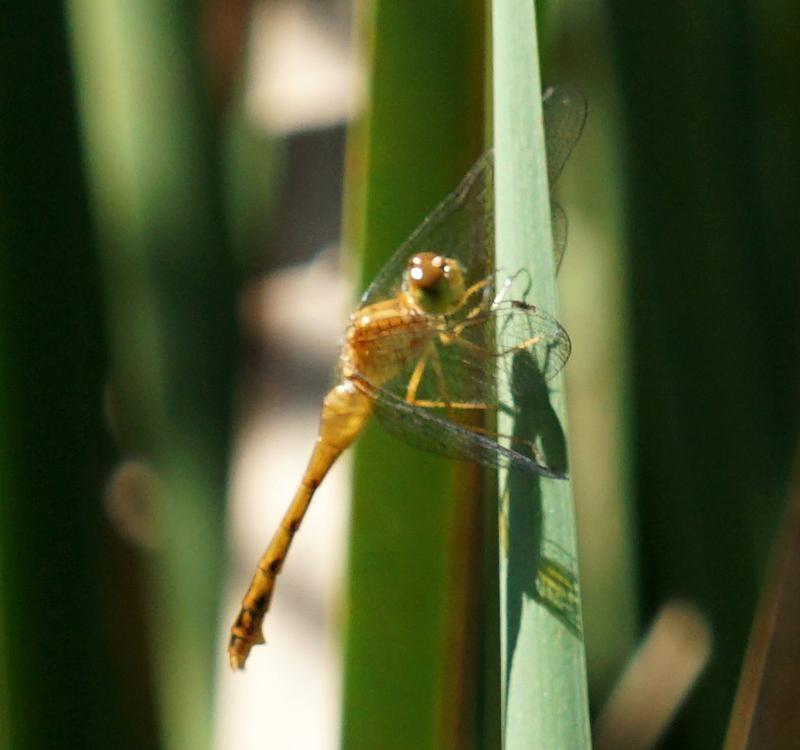
[[[325,397],[320,416],[319,436],[305,474],[291,505],[259,560],[250,587],[242,599],[239,615],[231,627],[228,657],[233,669],[242,669],[250,649],[264,642],[261,625],[269,609],[275,579],[281,570],[295,533],[328,470],[339,454],[355,440],[372,413],[369,395],[346,381]]]

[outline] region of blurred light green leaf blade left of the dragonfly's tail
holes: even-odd
[[[149,626],[165,744],[209,746],[235,366],[233,257],[199,9],[69,3],[114,418],[155,469]]]

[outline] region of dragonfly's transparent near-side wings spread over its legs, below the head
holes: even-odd
[[[397,349],[390,341],[384,344],[387,351]],[[556,320],[525,302],[481,304],[443,323],[422,359],[404,363],[389,382],[378,386],[364,380],[375,396],[378,419],[412,445],[490,466],[513,464],[563,476],[537,459],[533,441],[511,438],[507,448],[475,421],[477,415],[518,412],[525,394],[514,362],[521,353],[532,359],[544,383],[569,358],[569,336]],[[508,403],[498,400],[498,384],[500,392],[511,395]]]

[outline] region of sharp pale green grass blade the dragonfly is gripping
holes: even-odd
[[[533,3],[496,0],[492,22],[496,265],[526,269],[529,301],[555,315]],[[537,392],[500,432],[533,429],[548,461],[567,468],[562,377],[549,397]],[[589,747],[570,484],[501,474],[499,493],[503,747]]]

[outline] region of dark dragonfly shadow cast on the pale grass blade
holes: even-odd
[[[514,438],[519,445],[539,446],[531,458],[560,473],[567,471],[566,436],[550,403],[542,376],[546,370],[527,351],[514,355],[511,386],[516,410]],[[531,453],[533,451],[531,450]],[[503,501],[507,503],[506,622],[508,688],[525,601],[543,606],[576,638],[581,637],[577,580],[566,553],[545,543],[543,482],[557,481],[518,468],[508,472]]]

